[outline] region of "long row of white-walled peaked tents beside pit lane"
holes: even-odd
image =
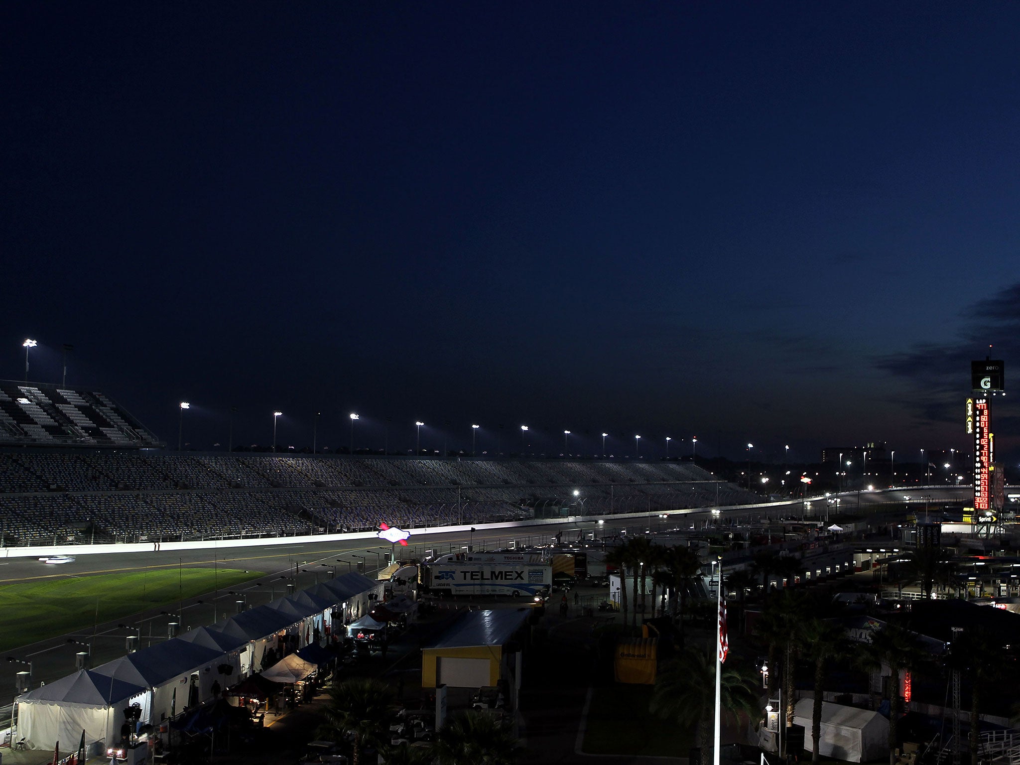
[[[342,630],[343,624],[367,614],[381,599],[381,582],[352,571],[94,669],[79,670],[14,700],[16,735],[30,749],[51,750],[57,742],[78,742],[84,730],[90,749],[97,742],[105,747],[120,740],[124,710],[133,706],[138,707],[139,726],[158,730],[185,708],[210,701],[215,692],[260,670],[265,679],[294,682],[323,659],[315,654],[320,648],[316,638],[333,631],[334,619]],[[276,661],[282,643],[296,644],[299,650]]]

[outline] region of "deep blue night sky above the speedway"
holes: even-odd
[[[964,448],[969,361],[1020,374],[1018,29],[1009,2],[4,3],[0,377],[31,337],[59,381],[73,344],[68,382],[173,446],[190,401],[195,449],[232,406],[235,444],[279,409],[298,448],[316,411],[330,449],[351,411],[391,450],[415,419],[478,451],[521,423],[547,453]]]

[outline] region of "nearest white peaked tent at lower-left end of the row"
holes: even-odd
[[[81,669],[19,696],[16,702],[17,730],[30,749],[52,750],[60,742],[69,750],[78,746],[83,730],[89,747],[118,738],[124,708],[138,704],[143,717],[148,714],[149,690]]]

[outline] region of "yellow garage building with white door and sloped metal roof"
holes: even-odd
[[[421,686],[519,686],[520,643],[530,608],[468,611],[421,651]]]

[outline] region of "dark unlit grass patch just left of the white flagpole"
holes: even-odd
[[[652,691],[652,685],[619,682],[593,688],[584,754],[686,757],[694,746],[694,730],[649,714]]]

